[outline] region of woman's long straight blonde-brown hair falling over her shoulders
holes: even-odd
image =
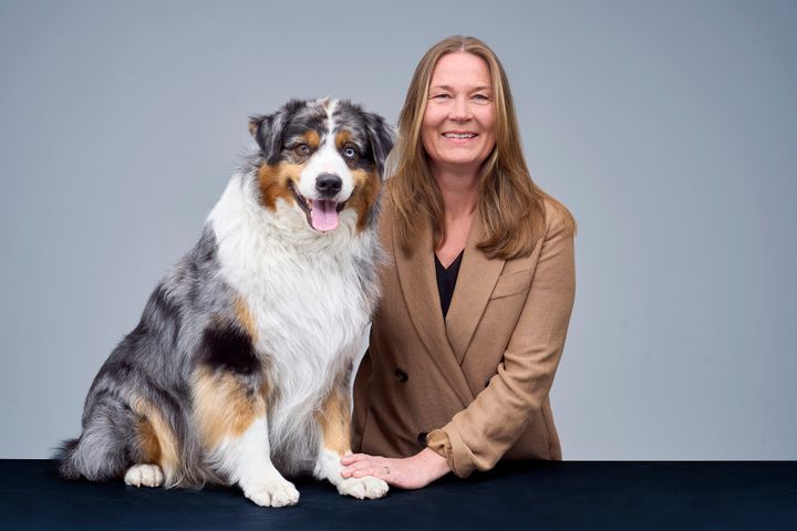
[[[397,217],[398,242],[404,252],[413,252],[415,237],[426,220],[432,223],[435,249],[446,238],[443,196],[429,171],[421,127],[434,67],[443,55],[454,52],[472,53],[487,63],[495,100],[496,146],[478,180],[477,207],[486,236],[477,247],[488,258],[527,257],[545,235],[545,198],[561,211],[569,230],[576,230],[576,221],[563,205],[531,181],[506,72],[493,50],[473,37],[454,35],[432,46],[410,82],[387,180],[387,194]]]

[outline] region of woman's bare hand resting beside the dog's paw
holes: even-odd
[[[343,456],[341,465],[343,479],[373,476],[400,489],[421,489],[451,471],[446,459],[428,448],[404,458],[352,454]]]

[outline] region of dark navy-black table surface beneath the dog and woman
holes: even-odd
[[[136,489],[0,460],[0,529],[797,529],[797,461],[563,461],[499,466],[381,500],[294,481],[290,508],[237,489]]]

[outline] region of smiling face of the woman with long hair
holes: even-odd
[[[495,101],[487,62],[467,52],[435,65],[421,139],[435,171],[478,171],[495,147]]]

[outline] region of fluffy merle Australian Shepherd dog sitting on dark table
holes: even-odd
[[[376,221],[393,129],[349,101],[293,100],[250,118],[257,146],[198,243],[162,279],[89,391],[62,477],[136,487],[238,485],[299,501],[312,473],[341,494],[353,363],[379,298]]]

